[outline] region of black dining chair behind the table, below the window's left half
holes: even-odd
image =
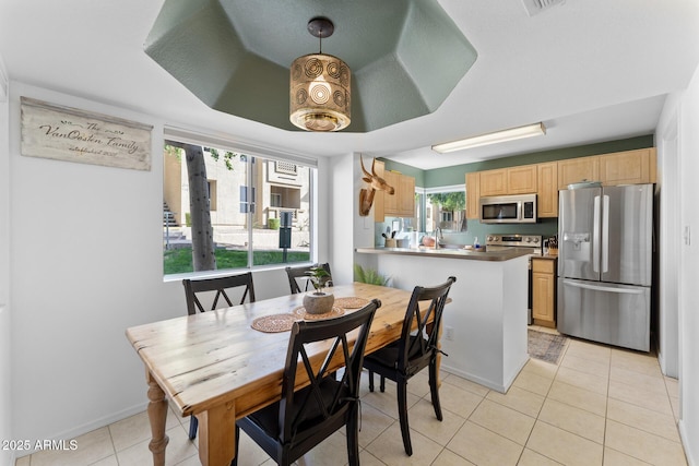
[[[245,302],[246,297],[249,302],[254,302],[254,286],[252,284],[252,273],[248,272],[239,275],[227,275],[223,277],[214,277],[214,278],[199,278],[199,279],[189,279],[185,278],[182,280],[182,285],[185,286],[185,298],[187,299],[187,313],[189,315],[194,315],[197,311],[205,312],[206,309],[202,304],[202,299],[204,295],[213,296],[212,304],[209,310],[213,311],[218,307],[230,307],[234,306],[233,301],[228,297],[228,292],[230,292],[235,288],[245,287],[242,290],[242,297],[240,298],[240,304]],[[227,292],[226,292],[227,291]],[[200,299],[202,298],[202,299]],[[206,301],[204,301],[206,302]],[[197,437],[197,428],[199,427],[199,420],[193,415],[189,419],[189,439],[194,440]]]

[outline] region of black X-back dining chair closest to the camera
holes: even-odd
[[[279,465],[289,465],[343,426],[346,427],[348,464],[359,464],[359,377],[369,327],[380,306],[381,301],[374,299],[337,319],[294,322],[282,399],[236,421],[234,465],[237,465],[240,429]],[[359,331],[351,347],[347,334],[355,328]],[[313,358],[318,362],[313,362],[307,351],[318,345],[324,349]],[[339,360],[345,368],[340,380],[329,373],[331,360]],[[297,378],[308,379],[309,384],[295,391]]]

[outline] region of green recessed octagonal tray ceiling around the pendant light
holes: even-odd
[[[297,130],[288,120],[288,68],[318,51],[306,27],[316,16],[335,25],[323,52],[353,72],[346,132],[435,111],[476,60],[435,0],[166,0],[145,51],[211,108]]]

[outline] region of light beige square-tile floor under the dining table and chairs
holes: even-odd
[[[386,393],[369,393],[363,378],[363,465],[687,464],[676,426],[677,381],[661,374],[653,355],[571,338],[559,365],[531,359],[507,394],[442,372],[442,422],[435,418],[426,374],[413,378],[408,391],[411,457],[401,441],[395,386],[387,381]],[[188,428],[188,418],[168,415],[167,465],[199,465]],[[39,452],[16,465],[152,464],[145,413],[76,440],[74,452]],[[337,432],[298,465],[340,464],[345,445]],[[272,464],[245,435],[239,453],[240,466]]]

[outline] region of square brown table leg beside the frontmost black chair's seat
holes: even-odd
[[[199,461],[202,466],[228,466],[236,455],[236,405],[228,402],[200,413]]]

